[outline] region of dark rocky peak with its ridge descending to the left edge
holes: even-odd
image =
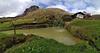
[[[19,17],[24,17],[26,16],[27,14],[29,14],[29,12],[33,12],[33,11],[36,11],[39,9],[39,6],[31,6],[29,8],[27,8],[21,15],[18,15],[16,17],[3,17],[3,18],[0,18],[0,23],[4,23],[4,22],[9,22],[11,21],[12,19],[19,19]]]

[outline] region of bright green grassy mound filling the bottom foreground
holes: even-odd
[[[8,49],[5,53],[96,53],[91,47],[84,47],[83,44],[65,46],[55,40],[35,36],[21,45]]]

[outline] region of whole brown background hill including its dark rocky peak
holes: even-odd
[[[30,8],[27,8],[23,14],[18,15],[16,17],[3,17],[0,19],[0,22],[6,22],[11,19],[14,20],[30,20],[31,22],[46,22],[48,19],[53,18],[63,18],[64,16],[71,15],[70,13],[58,9],[58,8],[48,8],[48,9],[41,9],[38,6],[31,6]]]

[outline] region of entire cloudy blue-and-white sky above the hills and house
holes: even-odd
[[[76,13],[86,11],[100,14],[100,0],[0,0],[0,17],[14,17],[22,14],[32,5],[40,8],[60,8]]]

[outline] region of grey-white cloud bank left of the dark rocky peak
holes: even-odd
[[[0,17],[16,16],[31,5],[31,0],[0,0]]]

